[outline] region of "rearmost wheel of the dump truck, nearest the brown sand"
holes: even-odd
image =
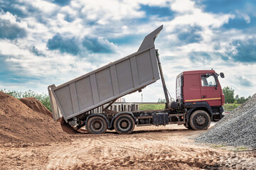
[[[102,134],[107,131],[107,122],[100,116],[94,116],[87,121],[86,128],[92,134]]]

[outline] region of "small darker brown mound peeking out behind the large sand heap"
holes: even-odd
[[[20,101],[26,104],[26,106],[28,106],[28,108],[31,108],[33,111],[49,115],[50,118],[53,118],[53,114],[45,106],[43,106],[40,101],[36,100],[36,98],[21,98]]]

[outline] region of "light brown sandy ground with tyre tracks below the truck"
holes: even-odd
[[[202,132],[151,126],[130,135],[113,130],[45,146],[0,147],[0,169],[255,169],[255,150],[191,140]]]

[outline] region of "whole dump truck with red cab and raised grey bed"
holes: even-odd
[[[211,121],[223,115],[224,95],[213,69],[181,72],[176,77],[176,100],[169,100],[159,52],[154,41],[163,26],[146,35],[137,52],[70,80],[60,86],[48,86],[53,119],[92,134],[115,130],[129,134],[135,126],[185,125],[193,130],[206,130]],[[165,108],[152,111],[111,111],[117,98],[142,91],[161,79],[166,99]],[[108,103],[106,105],[106,103]],[[102,113],[92,113],[105,106]]]

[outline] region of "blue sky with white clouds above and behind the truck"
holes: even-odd
[[[176,76],[195,69],[224,72],[222,86],[252,96],[255,11],[255,0],[0,0],[0,89],[47,93],[50,84],[137,52],[164,25],[155,45],[172,97]],[[143,101],[164,98],[161,81],[142,93]]]

